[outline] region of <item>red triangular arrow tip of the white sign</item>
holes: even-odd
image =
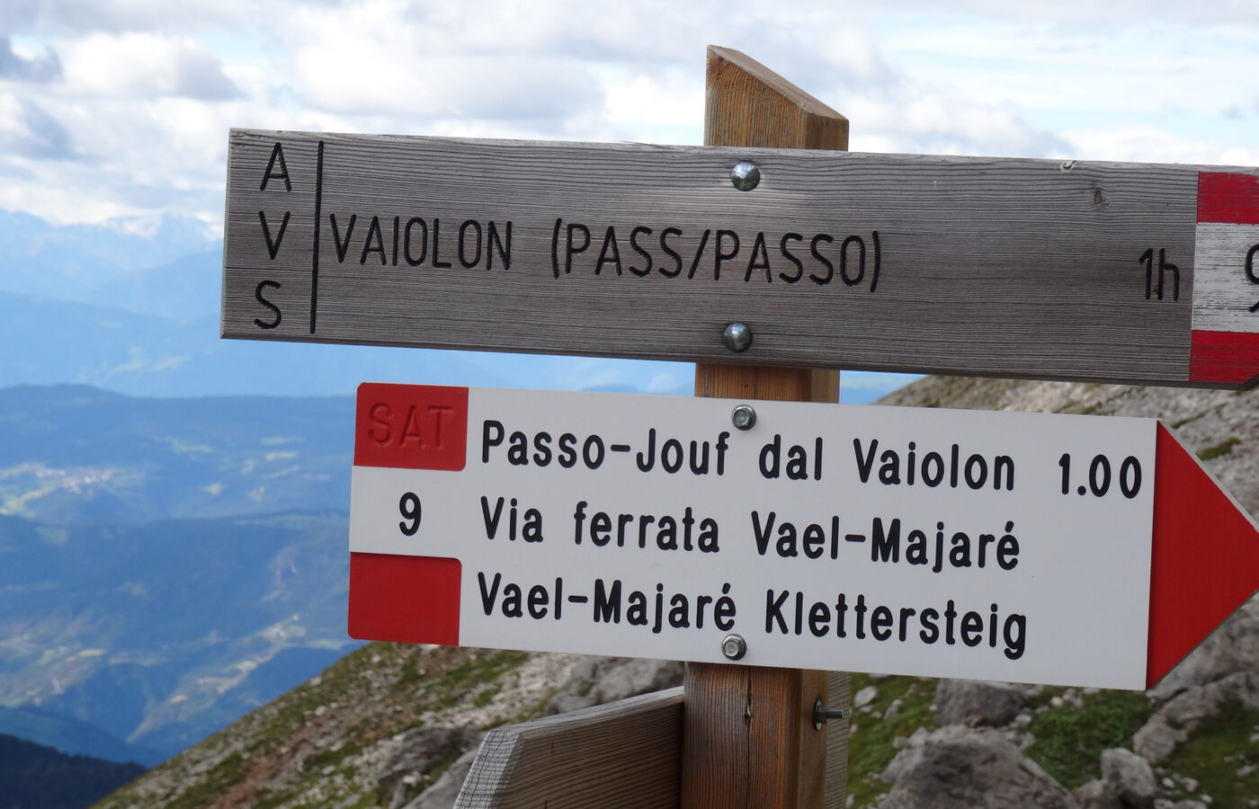
[[[1158,425],[1146,687],[1259,589],[1259,527]]]

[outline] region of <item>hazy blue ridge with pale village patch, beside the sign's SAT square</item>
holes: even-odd
[[[45,522],[349,510],[354,400],[0,390],[0,512]]]

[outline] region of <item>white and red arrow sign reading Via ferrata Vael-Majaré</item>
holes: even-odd
[[[356,638],[1115,688],[1259,586],[1153,420],[381,384],[350,551]]]

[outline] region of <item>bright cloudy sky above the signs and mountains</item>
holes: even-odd
[[[230,127],[699,143],[708,44],[854,151],[1259,165],[1259,0],[4,0],[0,209],[191,253]]]

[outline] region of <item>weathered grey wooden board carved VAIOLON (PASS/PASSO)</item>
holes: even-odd
[[[1259,171],[233,130],[223,336],[1240,386]]]

